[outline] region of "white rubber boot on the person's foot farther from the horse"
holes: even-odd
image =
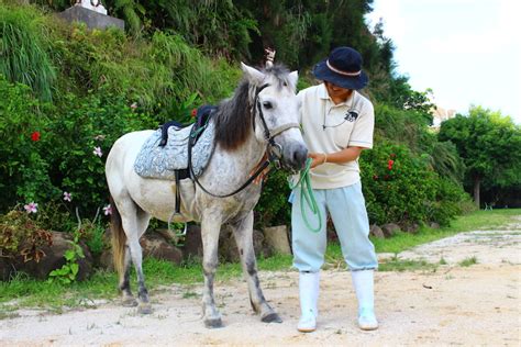
[[[374,270],[351,271],[358,299],[358,326],[363,331],[378,328],[378,321],[375,316],[374,272]]]

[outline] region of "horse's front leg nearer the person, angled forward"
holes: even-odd
[[[266,323],[281,323],[279,315],[264,299],[258,281],[257,260],[253,248],[253,211],[245,219],[233,225],[233,234],[237,243],[243,271],[248,284],[250,302],[253,310],[260,314],[260,320]]]

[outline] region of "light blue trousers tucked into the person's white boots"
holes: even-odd
[[[322,228],[314,233],[307,225],[300,208],[300,188],[293,190],[290,201],[293,266],[299,271],[318,272],[324,262],[326,246],[326,211],[339,236],[342,254],[352,271],[378,268],[375,246],[370,242],[369,220],[362,193],[362,183],[336,189],[313,189],[313,194],[322,217]],[[319,220],[309,210],[303,199],[306,217],[311,227],[317,227]]]

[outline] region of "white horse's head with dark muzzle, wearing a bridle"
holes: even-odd
[[[255,136],[268,144],[268,155],[295,171],[306,166],[308,149],[300,133],[296,96],[298,72],[276,65],[262,71],[242,64],[248,81]]]

